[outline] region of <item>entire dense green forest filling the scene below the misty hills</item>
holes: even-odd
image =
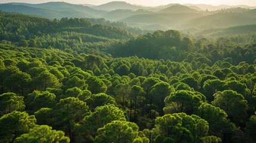
[[[256,142],[255,30],[0,21],[0,142]]]

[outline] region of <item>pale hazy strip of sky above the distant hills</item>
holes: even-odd
[[[7,2],[27,2],[27,3],[44,3],[49,1],[62,1],[62,0],[0,0],[0,3]],[[64,2],[69,2],[72,4],[94,4],[100,5],[110,2],[111,0],[63,0]],[[112,0],[113,1],[113,0]],[[116,0],[119,1],[119,0]],[[120,0],[122,1],[122,0]],[[179,4],[211,4],[211,5],[251,5],[256,6],[256,0],[127,0],[130,4],[138,4],[138,5],[147,5],[147,6],[156,6],[156,5],[165,5],[172,3]]]

